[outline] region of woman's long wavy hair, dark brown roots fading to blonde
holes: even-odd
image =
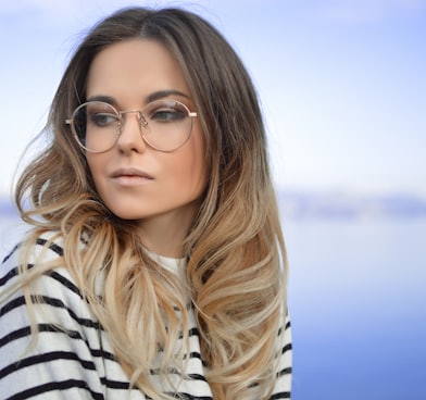
[[[190,254],[185,288],[147,257],[136,222],[120,220],[102,203],[85,154],[65,124],[86,101],[93,58],[133,38],[155,40],[176,58],[205,136],[210,180],[184,243]],[[175,346],[186,330],[184,292],[189,291],[214,398],[241,399],[253,385],[263,390],[259,398],[267,397],[286,313],[286,252],[258,97],[227,41],[187,11],[118,11],[76,49],[43,133],[51,135],[48,148],[16,185],[20,212],[36,225],[28,246],[47,230],[63,238],[64,259],[58,263],[73,274],[131,382],[154,399],[167,398],[155,391],[149,372],[159,347],[164,375],[171,364],[183,368]],[[37,268],[25,271],[24,264],[34,279]],[[100,274],[104,285],[99,296]]]

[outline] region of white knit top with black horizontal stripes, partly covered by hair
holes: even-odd
[[[38,239],[34,247],[35,257],[40,254],[45,243],[46,239]],[[1,264],[0,292],[16,279],[16,250],[7,255]],[[49,261],[62,257],[62,253],[61,243],[57,242],[42,257]],[[160,261],[164,266],[173,267],[173,259],[160,258]],[[129,389],[129,380],[114,357],[108,332],[100,326],[65,267],[39,277],[36,290],[41,299],[35,305],[39,335],[35,347],[28,351],[25,349],[29,343],[30,329],[23,293],[17,291],[0,304],[1,399],[149,399],[140,390]],[[43,315],[48,320],[43,320]],[[189,317],[190,355],[185,364],[187,377],[178,379],[174,370],[171,370],[168,377],[177,385],[178,395],[184,399],[213,399],[205,379],[193,313]],[[52,321],[65,329],[58,330]],[[288,321],[278,335],[284,335],[284,347],[271,399],[289,399],[291,336]],[[154,371],[152,375],[159,390],[172,392],[166,388],[166,380],[160,382]]]

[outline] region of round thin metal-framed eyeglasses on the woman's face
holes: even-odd
[[[110,103],[89,101],[78,105],[71,125],[78,145],[90,152],[112,149],[118,141],[125,124],[124,114],[137,114],[146,143],[155,150],[170,152],[184,146],[192,130],[196,112],[179,101],[165,99],[148,103],[142,110],[117,111]]]

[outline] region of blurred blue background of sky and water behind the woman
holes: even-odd
[[[0,252],[11,186],[76,45],[131,4],[214,24],[259,91],[290,266],[293,398],[426,399],[425,0],[0,4]]]

